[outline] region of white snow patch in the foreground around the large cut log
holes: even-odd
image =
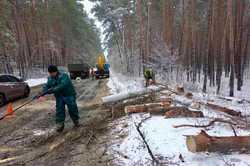
[[[124,130],[124,123],[128,123],[128,136],[122,141],[113,144],[111,153],[119,152],[119,158],[116,162],[118,165],[151,165],[150,156],[143,144],[135,126],[134,122],[144,119],[147,114],[134,114],[131,116],[118,119],[119,125],[113,130]],[[202,122],[200,122],[202,121]],[[117,122],[115,122],[117,123]],[[183,166],[224,166],[224,165],[238,165],[249,166],[250,156],[246,154],[231,154],[222,155],[218,153],[191,153],[186,147],[186,139],[184,135],[196,135],[200,132],[198,128],[173,128],[173,125],[179,124],[207,124],[206,119],[193,118],[177,118],[165,119],[162,116],[153,116],[145,121],[141,130],[143,131],[146,140],[153,152],[163,165],[183,165]],[[216,136],[232,136],[233,132],[230,126],[216,125],[207,131],[210,135]],[[238,135],[249,135],[250,131],[237,130]],[[118,135],[119,136],[119,135]],[[123,154],[123,155],[120,155]],[[182,155],[184,162],[179,159]],[[127,156],[127,157],[122,157]]]

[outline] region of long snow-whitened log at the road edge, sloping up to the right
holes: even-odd
[[[160,92],[166,88],[167,87],[164,87],[164,86],[150,86],[150,87],[137,90],[137,91],[133,91],[133,92],[124,92],[124,93],[119,93],[119,94],[115,94],[111,96],[106,96],[102,98],[102,102],[103,104],[117,103],[117,102],[121,102],[127,99],[136,98],[142,95]]]

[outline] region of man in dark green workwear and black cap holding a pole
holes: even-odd
[[[43,87],[43,94],[54,94],[56,98],[56,126],[57,131],[62,132],[65,121],[65,105],[75,127],[79,127],[79,113],[76,104],[76,91],[66,73],[58,71],[57,66],[48,67],[49,77]]]

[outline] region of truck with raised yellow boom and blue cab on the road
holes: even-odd
[[[110,65],[106,63],[106,59],[104,55],[99,55],[97,58],[95,77],[99,78],[109,78],[109,68]]]

